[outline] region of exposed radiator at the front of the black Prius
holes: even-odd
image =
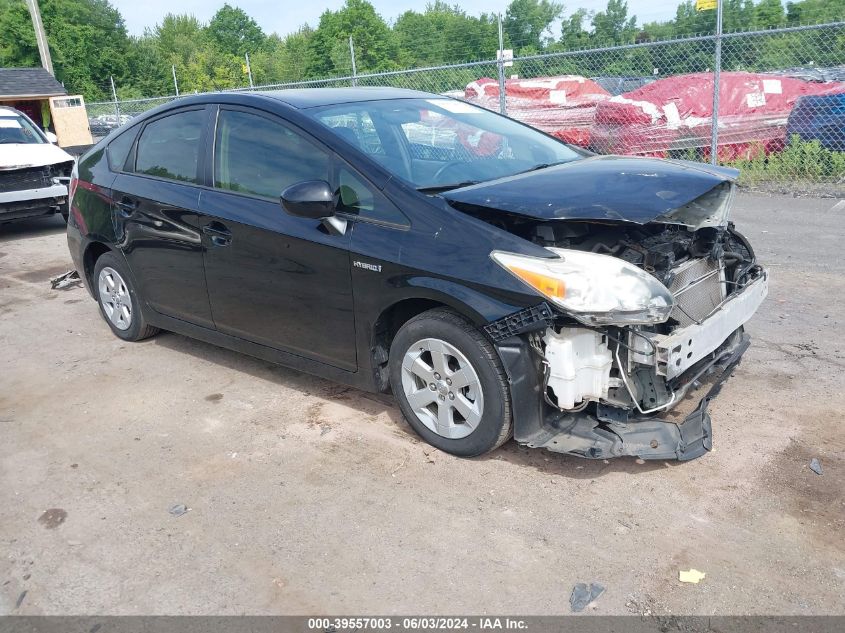
[[[675,297],[671,318],[680,327],[701,321],[725,298],[725,269],[722,262],[709,258],[692,259],[672,271],[675,277],[669,286]]]

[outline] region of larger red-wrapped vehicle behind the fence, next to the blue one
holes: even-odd
[[[841,82],[815,83],[778,75],[723,72],[719,81],[719,158],[750,158],[783,147],[786,121],[798,97],[845,90]],[[713,75],[661,79],[601,101],[590,146],[602,154],[666,156],[704,148],[709,156]]]

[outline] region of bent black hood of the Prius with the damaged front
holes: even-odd
[[[453,206],[539,220],[646,224],[732,182],[736,169],[689,161],[594,156],[441,194]]]

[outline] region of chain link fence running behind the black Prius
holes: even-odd
[[[845,22],[505,53],[235,90],[412,88],[502,112],[600,154],[718,162],[739,168],[750,185],[845,191]],[[175,98],[89,103],[92,133]]]

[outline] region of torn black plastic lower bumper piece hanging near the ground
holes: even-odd
[[[750,343],[750,337],[743,334],[731,354],[719,361],[721,374],[714,380],[696,409],[680,423],[654,417],[632,417],[627,422],[603,422],[587,413],[549,412],[549,407],[543,407],[545,411],[541,412],[524,407],[523,413],[528,415],[520,417],[519,407],[515,406],[514,439],[532,448],[547,448],[554,452],[590,459],[633,456],[642,459],[686,461],[700,457],[713,446],[707,408],[739,364]],[[536,390],[525,389],[525,382],[513,380],[512,370],[524,371],[527,367],[524,357],[521,359],[522,363],[517,363],[517,357],[512,352],[513,350],[511,354],[503,356],[505,368],[512,377],[512,393],[516,387],[517,391],[522,391],[522,397],[531,398],[533,395],[536,398]],[[524,353],[527,354],[528,351],[525,350]],[[519,393],[513,393],[514,405],[518,404],[519,397]]]

